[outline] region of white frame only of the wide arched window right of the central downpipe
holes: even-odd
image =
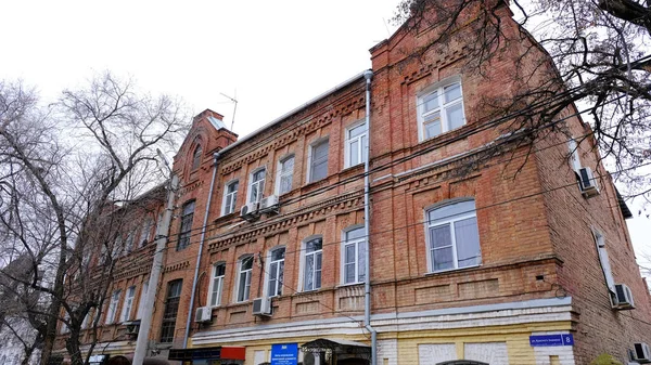
[[[430,221],[430,212],[439,208],[444,208],[450,205],[455,205],[455,204],[459,204],[459,203],[465,203],[465,201],[474,201],[476,204],[475,199],[452,199],[452,200],[448,200],[445,201],[444,204],[437,204],[434,205],[432,207],[429,207],[424,210],[425,212],[425,217],[424,217],[424,226],[425,226],[425,243],[426,243],[426,259],[427,259],[427,271],[429,273],[441,273],[441,272],[446,272],[446,271],[454,271],[454,270],[461,270],[461,269],[469,269],[469,268],[476,268],[480,266],[482,264],[482,244],[481,244],[481,237],[478,236],[478,221],[477,221],[477,246],[480,249],[480,256],[478,256],[478,263],[474,264],[474,265],[468,265],[468,266],[461,266],[459,268],[459,259],[458,259],[458,252],[457,252],[457,237],[456,234],[454,233],[454,223],[458,222],[458,221],[462,221],[469,218],[474,218],[476,220],[477,218],[477,213],[476,213],[476,205],[475,205],[475,210],[471,211],[471,212],[467,212],[467,213],[461,213],[461,214],[455,214],[451,216],[447,219],[437,219],[433,222]],[[430,238],[430,229],[433,227],[437,227],[437,226],[442,226],[442,225],[446,225],[449,224],[450,225],[450,230],[452,230],[452,232],[450,232],[450,238],[451,238],[451,247],[452,247],[452,263],[454,263],[454,268],[450,269],[442,269],[442,270],[434,270],[434,262],[432,262],[432,251],[434,250],[432,248],[432,242]],[[441,249],[441,247],[439,247]]]

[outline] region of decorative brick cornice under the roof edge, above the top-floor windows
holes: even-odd
[[[235,171],[242,166],[266,156],[267,154],[269,154],[270,151],[285,146],[296,141],[299,136],[309,134],[310,132],[314,132],[319,128],[329,125],[334,118],[347,115],[365,106],[365,96],[363,94],[360,94],[358,96],[346,99],[344,102],[340,103],[334,108],[330,109],[328,113],[321,115],[318,118],[307,117],[303,121],[299,121],[298,126],[295,127],[291,132],[280,135],[279,138],[273,139],[271,143],[266,144],[264,147],[256,148],[253,153],[250,153],[246,156],[224,166],[224,168],[221,169],[221,174],[227,174],[232,171]]]

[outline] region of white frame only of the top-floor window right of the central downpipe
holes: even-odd
[[[458,101],[457,99],[449,102],[449,103],[445,103],[445,88],[454,84],[454,83],[459,83],[459,90],[461,92],[461,97],[459,97],[460,101]],[[433,94],[434,92],[437,92],[437,97],[438,97],[438,107],[435,109],[432,109],[430,112],[424,112],[424,107],[425,107],[425,103],[424,103],[424,99],[431,94]],[[447,114],[445,113],[445,110],[448,107],[455,106],[457,104],[461,104],[461,112],[463,113],[463,125],[465,126],[468,123],[468,119],[465,118],[465,107],[463,104],[463,84],[461,83],[461,78],[459,76],[454,76],[450,78],[447,78],[441,82],[436,82],[427,88],[425,88],[423,91],[421,91],[417,97],[416,97],[416,109],[417,109],[417,116],[418,116],[418,138],[419,141],[426,141],[433,138],[436,138],[438,135],[445,134],[454,129],[450,128],[449,122],[447,120]],[[425,136],[425,125],[424,125],[424,117],[432,115],[436,112],[439,112],[441,114],[441,133],[433,135],[433,136]],[[461,127],[458,127],[461,128]],[[455,128],[457,129],[457,128]]]

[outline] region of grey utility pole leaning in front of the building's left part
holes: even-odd
[[[179,178],[176,174],[173,174],[167,191],[167,206],[165,207],[163,221],[156,229],[156,250],[154,251],[152,272],[150,273],[148,286],[149,289],[144,298],[144,311],[142,313],[142,317],[140,318],[140,330],[138,331],[138,340],[136,341],[136,351],[133,353],[132,364],[142,364],[144,356],[146,355],[149,334],[152,326],[152,313],[154,311],[154,302],[156,301],[156,288],[158,287],[158,279],[161,278],[161,271],[163,269],[163,255],[165,252],[165,247],[167,246],[169,222],[171,221],[171,212],[174,210],[174,195],[178,188],[178,185]]]

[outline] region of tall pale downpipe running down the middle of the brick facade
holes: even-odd
[[[371,209],[370,209],[370,145],[371,145],[371,79],[373,71],[367,69],[363,73],[366,79],[366,125],[367,125],[367,145],[365,147],[367,158],[363,162],[363,233],[367,237],[367,249],[365,252],[365,296],[363,296],[363,325],[371,333],[371,365],[378,365],[378,331],[371,326]]]

